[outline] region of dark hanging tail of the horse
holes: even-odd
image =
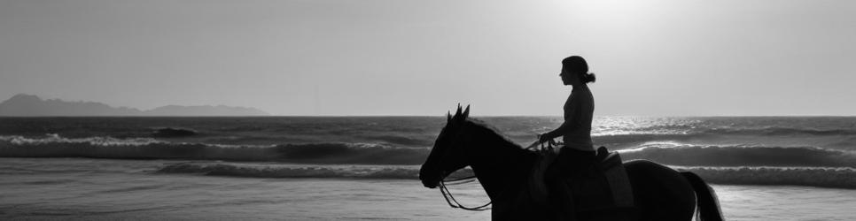
[[[720,221],[725,220],[720,210],[720,201],[716,198],[716,192],[708,186],[704,179],[691,171],[681,171],[681,175],[696,191],[696,220]]]

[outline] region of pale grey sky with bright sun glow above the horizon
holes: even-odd
[[[0,0],[19,93],[274,115],[856,115],[856,1]]]

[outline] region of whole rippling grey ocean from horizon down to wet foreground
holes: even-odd
[[[524,145],[562,118],[475,117]],[[444,117],[0,118],[0,219],[485,220],[422,187]],[[856,117],[595,117],[728,220],[854,220]],[[178,128],[168,130],[165,128]],[[487,202],[478,183],[451,189]]]

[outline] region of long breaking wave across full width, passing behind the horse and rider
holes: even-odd
[[[422,164],[430,149],[377,143],[322,142],[280,145],[223,145],[152,138],[43,138],[0,136],[0,156],[186,159],[293,164]],[[815,147],[699,146],[646,144],[619,150],[622,157],[681,166],[854,167],[856,151]]]

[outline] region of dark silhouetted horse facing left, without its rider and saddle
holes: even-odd
[[[447,124],[419,170],[424,187],[436,188],[453,171],[470,166],[493,203],[493,220],[552,220],[556,209],[545,205],[531,181],[541,155],[523,149],[478,119],[468,118],[470,106]],[[634,195],[634,220],[723,220],[713,189],[689,171],[675,171],[647,160],[623,163]],[[567,180],[573,182],[573,180]],[[697,199],[696,199],[697,197]],[[450,202],[451,203],[451,202]]]

